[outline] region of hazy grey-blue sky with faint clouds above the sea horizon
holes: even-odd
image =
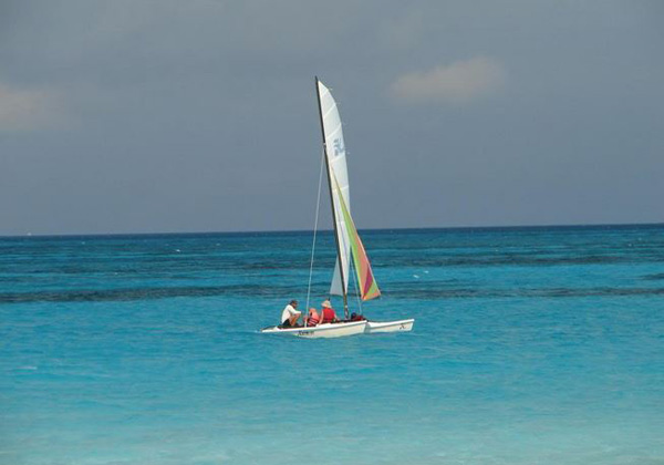
[[[663,51],[656,0],[3,0],[0,235],[311,229],[317,75],[360,229],[663,223]]]

